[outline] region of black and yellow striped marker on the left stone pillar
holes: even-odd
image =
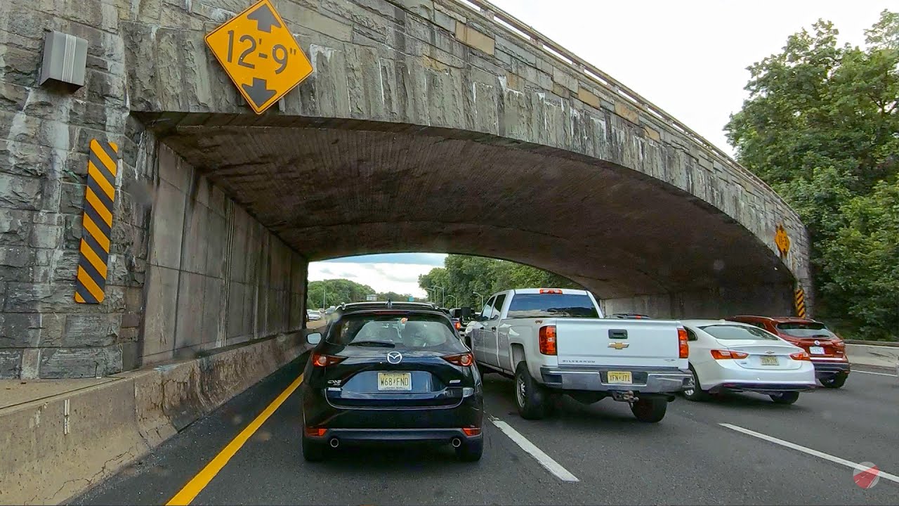
[[[102,303],[106,297],[106,267],[110,257],[112,203],[115,201],[115,177],[119,169],[119,147],[112,142],[91,140],[85,187],[84,230],[75,302]]]

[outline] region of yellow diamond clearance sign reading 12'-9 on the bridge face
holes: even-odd
[[[257,114],[312,74],[312,64],[270,0],[209,33],[206,45]]]

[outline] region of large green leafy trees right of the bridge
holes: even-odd
[[[818,21],[749,67],[749,98],[725,130],[740,162],[805,221],[819,314],[886,335],[896,331],[888,302],[897,298],[899,256],[881,232],[861,227],[886,226],[895,212],[899,15],[884,11],[865,48],[839,46],[838,34]]]

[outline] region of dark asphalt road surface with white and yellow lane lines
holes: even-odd
[[[791,406],[755,394],[679,398],[658,424],[637,422],[610,399],[565,399],[550,419],[522,420],[512,380],[489,374],[491,420],[474,464],[456,461],[449,446],[342,446],[307,464],[297,392],[242,447],[232,442],[296,384],[301,366],[284,367],[72,502],[899,504],[899,378],[886,371],[857,370],[841,390],[803,393]],[[873,487],[855,483],[854,463],[877,465]]]

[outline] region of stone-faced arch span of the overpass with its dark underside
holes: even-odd
[[[493,20],[453,0],[279,9],[315,73],[277,107],[245,105],[203,43],[228,16],[203,9],[123,24],[127,105],[310,260],[480,254],[603,297],[808,285],[806,230],[768,186]]]

